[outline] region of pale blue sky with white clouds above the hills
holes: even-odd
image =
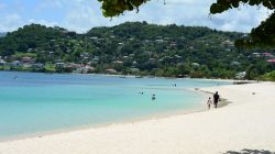
[[[222,31],[250,32],[271,11],[263,7],[242,6],[221,14],[209,15],[216,0],[151,0],[136,11],[105,18],[97,0],[0,0],[0,32],[11,32],[25,24],[40,23],[85,33],[95,26],[111,26],[127,21],[154,24],[209,26]]]

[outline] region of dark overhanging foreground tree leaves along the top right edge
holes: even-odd
[[[116,16],[124,11],[136,10],[150,0],[98,0],[102,3],[105,16]],[[164,0],[165,2],[165,0]],[[275,0],[217,0],[210,7],[210,13],[221,13],[232,8],[239,8],[241,3],[249,6],[263,6],[270,10],[275,9]],[[251,34],[235,42],[238,47],[275,47],[275,11],[260,26],[252,29]]]

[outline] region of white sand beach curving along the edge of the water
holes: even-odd
[[[204,90],[218,90],[233,103],[206,112],[1,142],[0,154],[211,154],[243,148],[275,152],[275,84]]]

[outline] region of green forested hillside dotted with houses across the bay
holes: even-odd
[[[235,48],[244,33],[127,22],[85,34],[31,24],[0,37],[0,69],[165,77],[272,78],[275,48]]]

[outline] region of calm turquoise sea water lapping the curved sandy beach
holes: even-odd
[[[200,109],[206,95],[189,88],[229,84],[0,72],[0,139]]]

